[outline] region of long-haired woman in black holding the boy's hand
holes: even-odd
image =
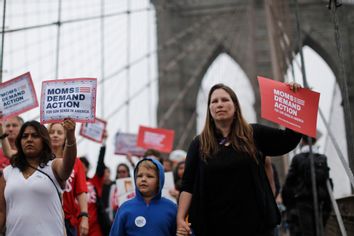
[[[280,216],[264,156],[286,154],[300,138],[289,129],[248,124],[234,91],[214,85],[204,129],[187,153],[177,235],[271,235]]]

